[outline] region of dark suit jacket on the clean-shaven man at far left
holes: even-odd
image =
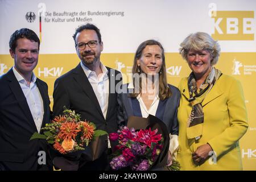
[[[37,129],[13,69],[0,77],[0,85],[0,168],[7,170],[51,169],[48,155],[46,166],[38,165],[38,152],[43,150],[48,154],[46,141],[39,139],[30,141],[30,137],[37,132]],[[48,86],[39,78],[36,79],[36,85],[44,104],[42,123],[44,127],[50,119]]]

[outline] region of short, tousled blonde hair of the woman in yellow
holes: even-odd
[[[213,38],[205,32],[196,32],[194,34],[190,34],[183,40],[183,42],[180,44],[179,51],[184,60],[188,61],[187,56],[191,49],[195,51],[207,49],[212,57],[212,60],[210,60],[211,65],[218,62],[218,56],[220,56],[221,51],[218,42],[213,40]]]

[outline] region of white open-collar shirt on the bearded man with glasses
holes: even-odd
[[[87,76],[90,85],[92,85],[93,91],[97,97],[98,104],[100,104],[101,111],[106,119],[106,113],[108,111],[109,105],[109,77],[108,69],[100,63],[100,68],[103,73],[96,75],[96,72],[91,71],[87,68],[82,61],[80,62],[82,69],[84,70],[85,75]]]

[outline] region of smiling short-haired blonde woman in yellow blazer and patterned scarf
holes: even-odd
[[[242,170],[238,140],[246,133],[242,86],[213,65],[217,41],[204,32],[189,35],[180,54],[192,72],[180,81],[179,151],[182,170]]]

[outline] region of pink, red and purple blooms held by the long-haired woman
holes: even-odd
[[[162,134],[158,129],[139,130],[121,127],[118,134],[109,135],[110,140],[119,140],[115,147],[115,156],[110,162],[114,170],[130,167],[133,171],[147,171],[163,148]]]

